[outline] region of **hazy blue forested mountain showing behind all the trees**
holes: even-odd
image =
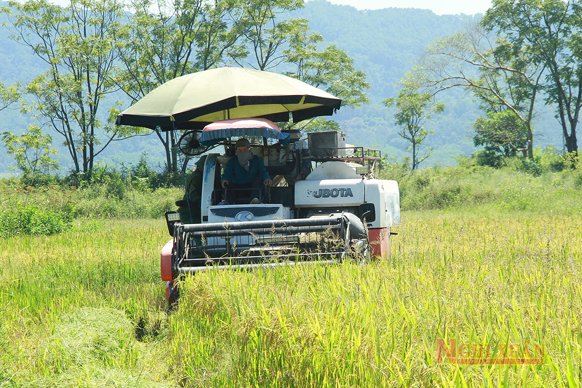
[[[0,6],[8,5],[0,1]],[[463,29],[478,16],[438,16],[430,10],[387,8],[359,11],[351,6],[332,5],[325,0],[312,0],[305,8],[296,10],[292,16],[305,17],[310,21],[311,30],[324,35],[325,42],[335,43],[354,58],[354,65],[367,73],[371,85],[368,91],[370,104],[360,108],[342,108],[332,117],[340,123],[351,144],[379,147],[383,153],[398,159],[406,156],[406,143],[398,136],[394,126],[393,111],[382,101],[395,97],[398,88],[394,86],[404,74],[414,66],[414,59],[423,48],[435,38]],[[5,16],[0,15],[0,23]],[[13,84],[15,81],[27,83],[42,72],[44,64],[31,55],[29,50],[8,37],[5,27],[0,27],[0,82]],[[276,71],[276,70],[275,70]],[[426,124],[434,135],[425,140],[426,146],[434,147],[434,156],[427,159],[424,166],[434,163],[455,163],[454,156],[469,155],[474,151],[471,138],[471,123],[481,113],[477,103],[465,95],[463,90],[452,90],[438,95],[439,102],[446,104],[445,112],[435,116]],[[551,118],[541,115],[541,118]],[[18,110],[5,109],[0,112],[0,133],[12,131],[22,133],[31,122],[27,115]],[[558,130],[549,129],[552,120],[538,120],[536,129],[544,133],[538,136],[534,145],[555,143],[561,147]],[[47,131],[49,133],[49,131]],[[60,146],[55,141],[55,147]],[[135,163],[141,152],[147,152],[151,161],[163,163],[163,151],[158,141],[150,137],[137,137],[111,145],[104,155],[104,161]],[[66,173],[69,156],[59,155]],[[6,172],[12,163],[5,152],[0,153],[0,173]]]

